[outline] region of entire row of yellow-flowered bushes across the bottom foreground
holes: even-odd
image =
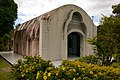
[[[15,80],[120,80],[120,68],[64,60],[55,68],[39,56],[26,56],[12,67]]]

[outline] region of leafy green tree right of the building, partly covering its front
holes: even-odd
[[[97,37],[88,40],[97,47],[96,53],[102,65],[110,65],[113,55],[120,56],[120,4],[113,5],[112,8],[113,15],[102,17]]]

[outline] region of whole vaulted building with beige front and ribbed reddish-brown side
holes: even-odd
[[[97,28],[88,14],[76,5],[68,4],[21,24],[15,32],[14,52],[40,55],[49,60],[68,59],[71,37],[71,44],[77,43],[72,47],[79,50],[78,54],[75,53],[77,50],[71,49],[71,54],[86,56],[93,51],[85,40],[94,37],[96,33]]]

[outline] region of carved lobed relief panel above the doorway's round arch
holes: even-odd
[[[69,30],[78,29],[82,31],[82,33],[86,34],[86,26],[83,22],[83,18],[78,11],[72,10],[69,13],[69,18],[65,22],[65,26],[63,27],[63,39],[65,34],[68,33]]]

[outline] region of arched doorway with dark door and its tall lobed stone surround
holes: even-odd
[[[74,60],[79,58],[80,56],[84,56],[86,53],[86,39],[87,29],[86,25],[84,25],[82,15],[80,12],[73,11],[71,12],[69,19],[66,21],[64,27],[64,39],[65,44],[65,55],[63,59]],[[72,37],[72,40],[70,38]],[[73,36],[77,36],[74,40]],[[75,44],[77,43],[77,44]],[[72,46],[72,44],[75,45]]]

